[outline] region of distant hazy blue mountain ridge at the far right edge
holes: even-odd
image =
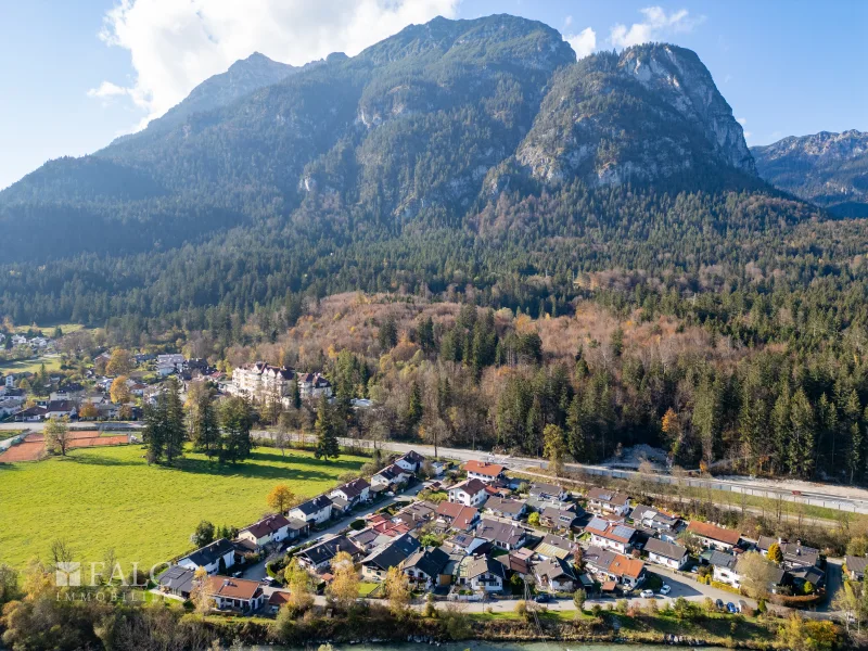
[[[868,133],[791,136],[751,152],[769,183],[842,217],[868,217]]]

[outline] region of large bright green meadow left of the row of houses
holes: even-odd
[[[312,496],[365,462],[318,461],[304,451],[284,460],[258,448],[237,465],[188,454],[177,468],[162,468],[142,455],[140,446],[89,448],[66,459],[0,464],[0,562],[47,560],[52,540],[64,538],[76,561],[99,562],[114,548],[120,562],[150,567],[187,551],[202,520],[244,526],[259,518],[275,484]]]

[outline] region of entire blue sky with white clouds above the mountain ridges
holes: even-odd
[[[141,127],[254,50],[301,64],[433,15],[512,13],[582,49],[694,50],[749,144],[868,130],[868,2],[0,0],[0,188]],[[592,34],[591,34],[592,33]]]

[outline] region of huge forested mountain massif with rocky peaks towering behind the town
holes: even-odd
[[[815,216],[756,176],[693,52],[576,62],[539,22],[435,18],[301,68],[254,55],[0,192],[0,314],[201,321],[286,293],[472,286],[538,312],[579,270],[743,266],[725,233]]]

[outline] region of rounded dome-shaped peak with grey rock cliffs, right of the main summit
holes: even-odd
[[[709,71],[669,44],[600,52],[557,75],[516,161],[539,180],[592,186],[714,167],[756,174]]]

